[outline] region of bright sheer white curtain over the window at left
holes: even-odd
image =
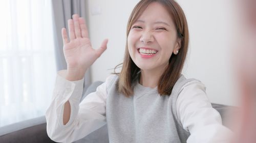
[[[44,116],[56,65],[50,0],[0,1],[0,126]]]

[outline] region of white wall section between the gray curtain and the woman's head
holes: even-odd
[[[108,38],[108,49],[92,65],[92,81],[104,81],[113,72],[116,65],[122,63],[126,42],[126,23],[138,0],[88,0],[87,19],[89,20],[89,34],[94,48],[101,45],[103,39]],[[101,8],[101,14],[92,12]]]

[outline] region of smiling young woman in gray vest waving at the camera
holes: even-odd
[[[110,142],[227,142],[229,130],[205,86],[181,75],[188,27],[173,0],[142,0],[127,24],[122,70],[80,104],[83,75],[106,49],[91,47],[87,26],[73,15],[62,29],[67,70],[58,72],[47,132],[58,142],[80,139],[104,124]]]

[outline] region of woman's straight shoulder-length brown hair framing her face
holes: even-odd
[[[179,79],[181,71],[186,59],[186,53],[188,48],[188,26],[185,14],[179,4],[174,0],[141,0],[133,9],[131,16],[129,18],[126,30],[126,38],[129,35],[132,25],[140,17],[143,11],[153,2],[162,4],[168,13],[172,16],[175,26],[177,28],[178,38],[181,39],[181,46],[179,54],[172,54],[169,59],[169,65],[164,73],[161,75],[158,82],[158,93],[160,95],[170,95],[172,93],[174,84]],[[115,69],[120,66],[117,65]],[[127,46],[125,47],[124,60],[122,63],[122,70],[119,75],[119,81],[117,83],[118,91],[124,94],[126,97],[133,95],[132,82],[137,78],[137,73],[140,68],[133,62]]]

